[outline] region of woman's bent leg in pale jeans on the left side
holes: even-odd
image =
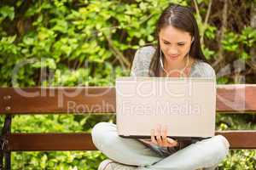
[[[119,137],[116,125],[110,122],[97,123],[91,136],[98,150],[119,163],[145,166],[163,159],[137,139]]]

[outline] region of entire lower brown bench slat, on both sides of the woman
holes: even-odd
[[[230,141],[232,149],[256,149],[256,131],[216,132]],[[96,150],[88,133],[13,133],[9,150]]]

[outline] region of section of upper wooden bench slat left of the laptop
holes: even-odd
[[[115,88],[0,88],[0,114],[113,113]],[[10,96],[10,99],[7,99]],[[8,107],[10,110],[8,110]]]

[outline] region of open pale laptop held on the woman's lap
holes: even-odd
[[[212,137],[215,111],[215,78],[116,79],[116,122],[121,137],[150,138],[150,130],[159,124],[175,139]]]

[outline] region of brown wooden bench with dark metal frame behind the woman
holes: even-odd
[[[10,133],[13,116],[115,113],[115,88],[0,88],[0,102],[0,113],[5,115],[0,138],[0,169],[3,164],[5,169],[10,169],[12,151],[96,150],[90,133]],[[256,85],[218,85],[218,113],[255,111]],[[231,149],[256,149],[256,131],[232,130],[216,134],[224,135],[230,141]]]

